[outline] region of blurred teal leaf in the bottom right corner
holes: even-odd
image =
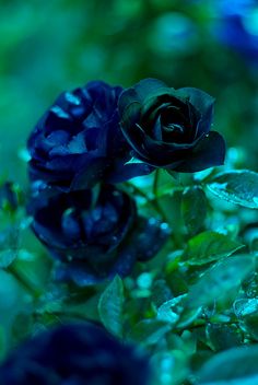
[[[225,350],[219,354],[215,354],[204,363],[198,373],[198,384],[257,384],[257,362],[258,346],[241,347]]]

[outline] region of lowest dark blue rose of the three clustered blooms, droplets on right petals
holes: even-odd
[[[129,195],[112,185],[40,195],[30,210],[35,234],[59,260],[56,278],[79,285],[129,275],[134,261],[154,257],[168,235],[166,224],[139,217]]]

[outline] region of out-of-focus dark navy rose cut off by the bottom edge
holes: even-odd
[[[149,380],[142,352],[90,323],[44,331],[0,366],[0,385],[146,385]]]

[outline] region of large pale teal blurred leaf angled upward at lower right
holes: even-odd
[[[253,269],[254,259],[249,255],[239,255],[218,262],[190,288],[187,306],[192,308],[226,299],[231,289],[237,288]]]

